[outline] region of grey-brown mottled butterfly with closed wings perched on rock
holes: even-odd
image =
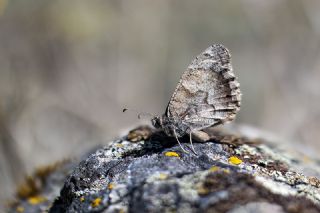
[[[162,116],[152,124],[168,136],[209,140],[204,129],[232,121],[240,110],[240,84],[235,77],[231,55],[221,44],[214,44],[198,55],[183,73]]]

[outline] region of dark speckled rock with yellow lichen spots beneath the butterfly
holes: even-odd
[[[320,212],[317,159],[253,129],[207,133],[211,140],[194,143],[195,155],[161,132],[133,130],[76,166],[47,210]],[[31,204],[12,212],[19,205]]]

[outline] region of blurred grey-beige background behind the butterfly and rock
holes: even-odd
[[[232,53],[238,123],[320,151],[317,0],[0,0],[0,200],[24,174],[163,113],[191,60]]]

